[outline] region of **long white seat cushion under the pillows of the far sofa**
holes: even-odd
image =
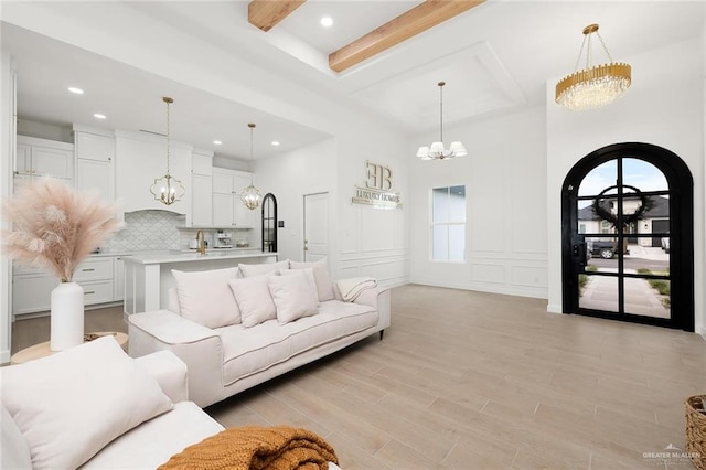
[[[223,383],[265,371],[297,354],[377,324],[379,313],[371,306],[329,300],[319,313],[286,327],[276,320],[246,329],[234,324],[218,329],[223,340]]]

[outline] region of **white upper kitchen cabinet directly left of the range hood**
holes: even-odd
[[[115,138],[74,126],[76,188],[115,200]]]

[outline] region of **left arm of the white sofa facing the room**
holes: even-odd
[[[128,332],[132,357],[167,350],[186,364],[189,399],[196,405],[224,398],[223,344],[217,332],[169,310],[129,316]]]

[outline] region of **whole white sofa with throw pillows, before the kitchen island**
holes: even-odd
[[[311,266],[313,268],[310,268]],[[286,279],[272,279],[272,276],[288,271],[287,267],[307,271],[308,278],[315,284],[314,295],[318,297],[318,305],[314,307],[314,314],[282,322],[279,318],[280,303],[286,303],[287,296],[297,297],[301,293],[297,289],[285,289],[279,292],[280,301],[277,301],[278,295],[271,290],[272,282]],[[128,318],[129,354],[137,357],[161,350],[173,352],[189,367],[190,397],[199,406],[205,407],[225,399],[371,334],[379,332],[382,340],[384,329],[391,324],[388,290],[368,288],[356,292],[354,301],[343,301],[335,285],[328,280],[328,273],[321,265],[293,261],[290,265],[289,261],[281,261],[269,268],[245,269],[240,265],[239,271],[235,269],[189,274],[191,277],[185,279],[188,285],[199,284],[199,276],[204,276],[201,282],[202,290],[197,288],[195,291],[192,289],[191,292],[186,292],[191,298],[183,291],[173,291],[170,293],[169,309],[136,313]],[[269,273],[267,269],[270,269]],[[313,271],[313,279],[308,273],[310,269]],[[246,278],[253,279],[253,284],[240,282],[243,274]],[[225,276],[225,281],[218,278],[221,275]],[[178,290],[184,284],[184,276],[186,275],[183,273],[175,273]],[[301,277],[298,274],[297,276]],[[267,282],[265,290],[257,290],[259,287],[256,288],[254,284],[254,279],[265,277],[270,282],[269,292]],[[227,287],[229,284],[238,282],[248,295],[259,296],[245,300],[259,301],[271,296],[278,318],[270,317],[257,324],[245,325],[249,320],[244,309],[246,301],[238,298],[235,288]],[[185,314],[184,303],[189,302],[193,303],[193,310],[202,309],[201,317],[194,311]],[[204,302],[207,306],[204,306]],[[232,324],[220,327],[223,318],[213,324],[213,316],[204,317],[222,303],[228,303],[228,309],[237,309],[239,306],[242,312],[236,320],[229,320]],[[203,312],[203,309],[206,309],[206,312]],[[228,309],[225,309],[221,317],[229,314]],[[211,327],[204,325],[210,322]]]

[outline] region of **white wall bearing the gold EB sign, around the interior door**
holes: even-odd
[[[263,195],[275,194],[277,218],[285,221],[285,228],[278,229],[280,259],[302,259],[303,196],[328,192],[331,275],[373,276],[383,286],[408,281],[408,154],[400,135],[377,127],[342,126],[335,138],[255,162],[255,185]],[[367,160],[392,169],[392,191],[400,193],[403,209],[351,203],[355,186],[365,184]]]

